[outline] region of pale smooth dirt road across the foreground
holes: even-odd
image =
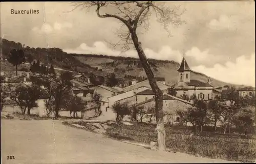
[[[230,162],[148,150],[51,120],[1,120],[1,153],[4,164]]]

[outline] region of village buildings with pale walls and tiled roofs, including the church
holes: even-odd
[[[42,66],[46,67],[46,66]],[[47,68],[45,68],[47,69]],[[55,73],[54,68],[50,68],[52,73],[56,74],[56,77],[60,76],[60,73]],[[219,86],[213,87],[210,77],[208,82],[191,79],[190,68],[185,60],[182,59],[179,69],[177,70],[177,81],[178,83],[173,86],[167,86],[165,84],[165,78],[155,77],[158,87],[162,90],[163,97],[163,108],[165,111],[175,110],[173,109],[177,104],[186,106],[192,103],[191,97],[202,98],[203,100],[215,100],[215,99],[226,99],[228,90],[231,86]],[[1,71],[1,85],[12,86],[13,89],[20,85],[31,85],[31,77],[38,75],[33,71],[16,71],[5,72]],[[116,102],[129,102],[130,105],[143,105],[149,106],[154,103],[154,93],[148,82],[148,79],[138,81],[132,79],[130,85],[115,85],[108,87],[106,85],[94,85],[91,83],[91,77],[86,74],[72,72],[73,79],[72,83],[72,95],[80,97],[83,101],[92,101],[95,93],[101,95],[100,109],[103,114],[111,111],[110,108]],[[244,87],[238,90],[238,97],[254,96],[255,88]],[[172,107],[173,106],[173,107]],[[175,121],[179,121],[179,116],[175,116]]]

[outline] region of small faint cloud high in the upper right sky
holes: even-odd
[[[220,15],[219,19],[212,19],[207,26],[212,30],[236,30],[238,19],[233,16]]]

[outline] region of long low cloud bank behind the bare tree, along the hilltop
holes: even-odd
[[[75,49],[63,49],[68,53],[81,53],[81,54],[103,54],[108,56],[123,56],[123,57],[133,57],[138,58],[138,53],[135,50],[128,50],[126,52],[121,52],[119,50],[114,50],[106,46],[104,42],[97,41],[94,42],[93,46],[90,47],[86,43],[80,44],[79,47]],[[147,58],[157,59],[157,60],[170,60],[180,62],[182,59],[182,54],[178,50],[173,50],[169,46],[162,46],[158,52],[145,48],[144,52]]]

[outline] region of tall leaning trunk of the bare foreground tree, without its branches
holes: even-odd
[[[156,121],[157,121],[156,130],[157,130],[157,138],[158,138],[158,150],[165,151],[165,130],[164,130],[164,123],[163,123],[163,93],[157,86],[153,71],[141,47],[141,43],[138,40],[136,32],[132,30],[130,32],[131,32],[131,37],[132,37],[134,46],[136,48],[136,51],[138,52],[140,62],[145,70],[145,73],[147,75],[147,79],[150,83],[152,91],[155,94],[155,102],[156,102],[155,114],[156,114]]]

